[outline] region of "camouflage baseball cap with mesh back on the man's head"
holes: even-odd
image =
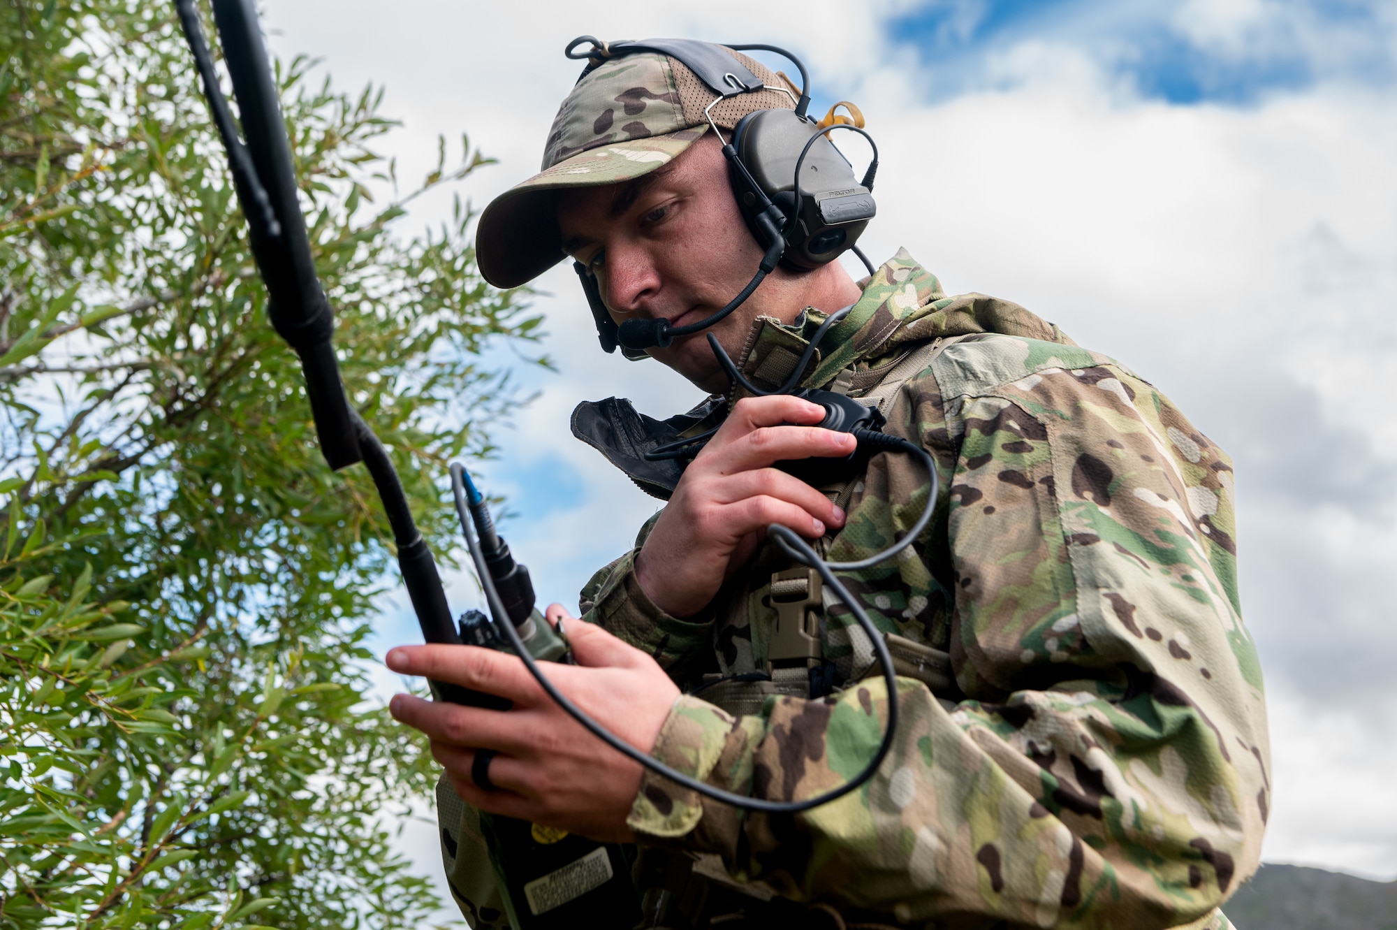
[[[722,46],[719,46],[722,47]],[[714,124],[732,128],[747,113],[795,109],[785,75],[722,47],[768,88],[725,98]],[[647,175],[708,131],[704,109],[718,96],[678,59],[637,52],[606,59],[584,74],[563,105],[543,148],[542,170],[496,197],[481,214],[476,260],[496,288],[532,281],[563,260],[553,191],[598,187]]]

